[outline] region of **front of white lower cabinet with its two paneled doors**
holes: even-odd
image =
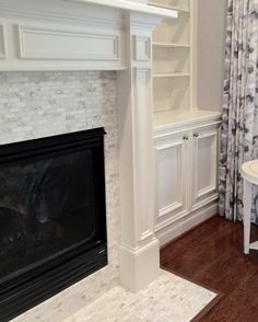
[[[157,232],[216,200],[219,126],[213,119],[155,133]]]

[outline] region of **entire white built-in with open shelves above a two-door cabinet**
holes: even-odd
[[[215,215],[221,114],[195,105],[196,0],[149,0],[178,11],[153,33],[155,231],[162,244]]]

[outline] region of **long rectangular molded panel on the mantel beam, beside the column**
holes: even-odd
[[[108,33],[86,33],[83,30],[68,30],[68,26],[62,28],[57,25],[17,25],[19,34],[19,49],[21,59],[50,59],[50,60],[119,60],[119,43],[120,36],[116,34]],[[26,44],[27,37],[33,37],[33,47],[31,39],[31,47]],[[44,46],[44,51],[39,51],[38,47],[47,38]],[[72,41],[72,42],[71,42]],[[107,41],[112,43],[113,50],[110,53],[105,53]],[[60,44],[58,42],[61,42]],[[54,51],[54,45],[60,46],[66,43],[66,51],[58,50]],[[77,43],[75,43],[77,42]],[[84,53],[83,49],[84,44]],[[97,49],[96,42],[102,46],[102,50]],[[48,44],[50,43],[50,46]],[[72,45],[77,45],[80,50],[71,50]],[[91,53],[92,48],[96,48],[95,53]],[[87,49],[87,51],[86,51]],[[90,51],[89,51],[90,49]]]

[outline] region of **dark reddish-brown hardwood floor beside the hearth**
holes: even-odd
[[[258,240],[258,227],[251,227]],[[258,321],[258,251],[243,253],[243,226],[211,218],[161,250],[162,268],[223,294],[200,321]]]

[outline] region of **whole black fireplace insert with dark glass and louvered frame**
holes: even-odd
[[[1,322],[107,264],[104,134],[0,146]]]

